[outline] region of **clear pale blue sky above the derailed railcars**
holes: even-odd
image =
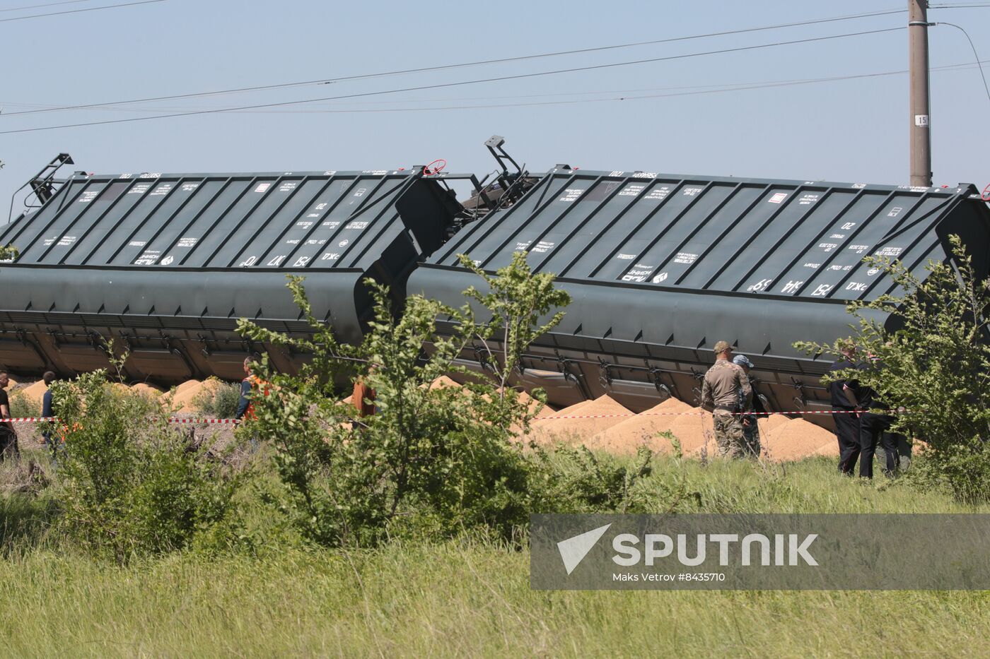
[[[13,113],[323,80],[899,10],[870,2],[335,3],[0,0],[0,204],[59,151],[98,173],[384,169],[446,158],[484,174],[489,136],[532,171],[635,170],[908,182],[907,32],[683,57],[347,100],[60,130],[901,28],[906,13],[667,44],[115,108]],[[933,3],[936,4],[936,3]],[[947,2],[944,4],[948,4]],[[967,3],[953,3],[967,4]],[[988,2],[990,4],[990,2]],[[990,59],[990,7],[932,9]],[[971,64],[958,30],[930,31],[932,66]],[[990,69],[990,65],[985,64]],[[990,70],[987,71],[990,74]],[[871,76],[808,84],[780,81]],[[728,86],[759,86],[725,91]],[[990,99],[971,66],[932,74],[935,183],[990,183]],[[705,93],[701,93],[705,92]],[[625,98],[626,100],[617,100]],[[502,106],[502,107],[491,107]],[[17,206],[20,205],[18,202]],[[15,210],[16,216],[16,210]]]

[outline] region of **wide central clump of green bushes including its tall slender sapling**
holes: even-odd
[[[469,259],[462,259],[473,268]],[[649,473],[648,455],[632,467],[597,461],[587,452],[528,451],[525,436],[538,412],[508,386],[521,356],[563,317],[569,302],[552,275],[533,274],[525,253],[494,275],[478,272],[487,292],[465,295],[474,310],[452,309],[420,296],[402,315],[390,311],[387,291],[368,281],[375,316],[361,345],[339,344],[313,317],[302,280],[289,288],[313,331],[293,338],[246,319],[240,330],[253,340],[287,344],[313,359],[298,376],[275,374],[266,359],[256,365],[269,384],[255,392],[256,420],[242,436],[271,442],[284,506],[304,536],[324,545],[374,545],[385,538],[449,536],[480,530],[502,539],[534,512],[632,510],[637,483]],[[452,320],[441,336],[437,319]],[[493,338],[497,337],[497,338]],[[470,377],[454,365],[465,346],[481,342],[493,378]],[[424,346],[430,345],[429,358]],[[358,364],[358,377],[375,392],[376,413],[353,419],[335,382]],[[463,387],[431,388],[460,371]],[[541,391],[534,392],[545,400]]]

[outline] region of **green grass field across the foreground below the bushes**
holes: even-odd
[[[683,468],[686,510],[990,512],[826,459]],[[3,656],[990,656],[987,592],[540,592],[528,552],[468,539],[120,567],[31,546],[42,504],[17,497],[0,509]]]

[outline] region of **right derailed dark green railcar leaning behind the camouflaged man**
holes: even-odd
[[[988,271],[990,213],[972,186],[929,188],[592,172],[558,167],[518,203],[467,227],[420,266],[409,292],[451,305],[487,271],[528,250],[573,302],[533,345],[518,382],[569,405],[609,394],[635,411],[667,396],[697,404],[712,347],[756,364],[775,411],[828,409],[828,364],[793,347],[850,333],[847,301],[893,289],[862,263],[896,257],[916,272],[961,235]],[[485,350],[462,363],[482,372]],[[826,422],[827,423],[827,422]]]

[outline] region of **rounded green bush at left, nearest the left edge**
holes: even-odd
[[[189,546],[228,518],[237,477],[167,424],[161,400],[104,371],[52,383],[52,394],[49,429],[65,447],[58,522],[77,543],[126,560]]]

